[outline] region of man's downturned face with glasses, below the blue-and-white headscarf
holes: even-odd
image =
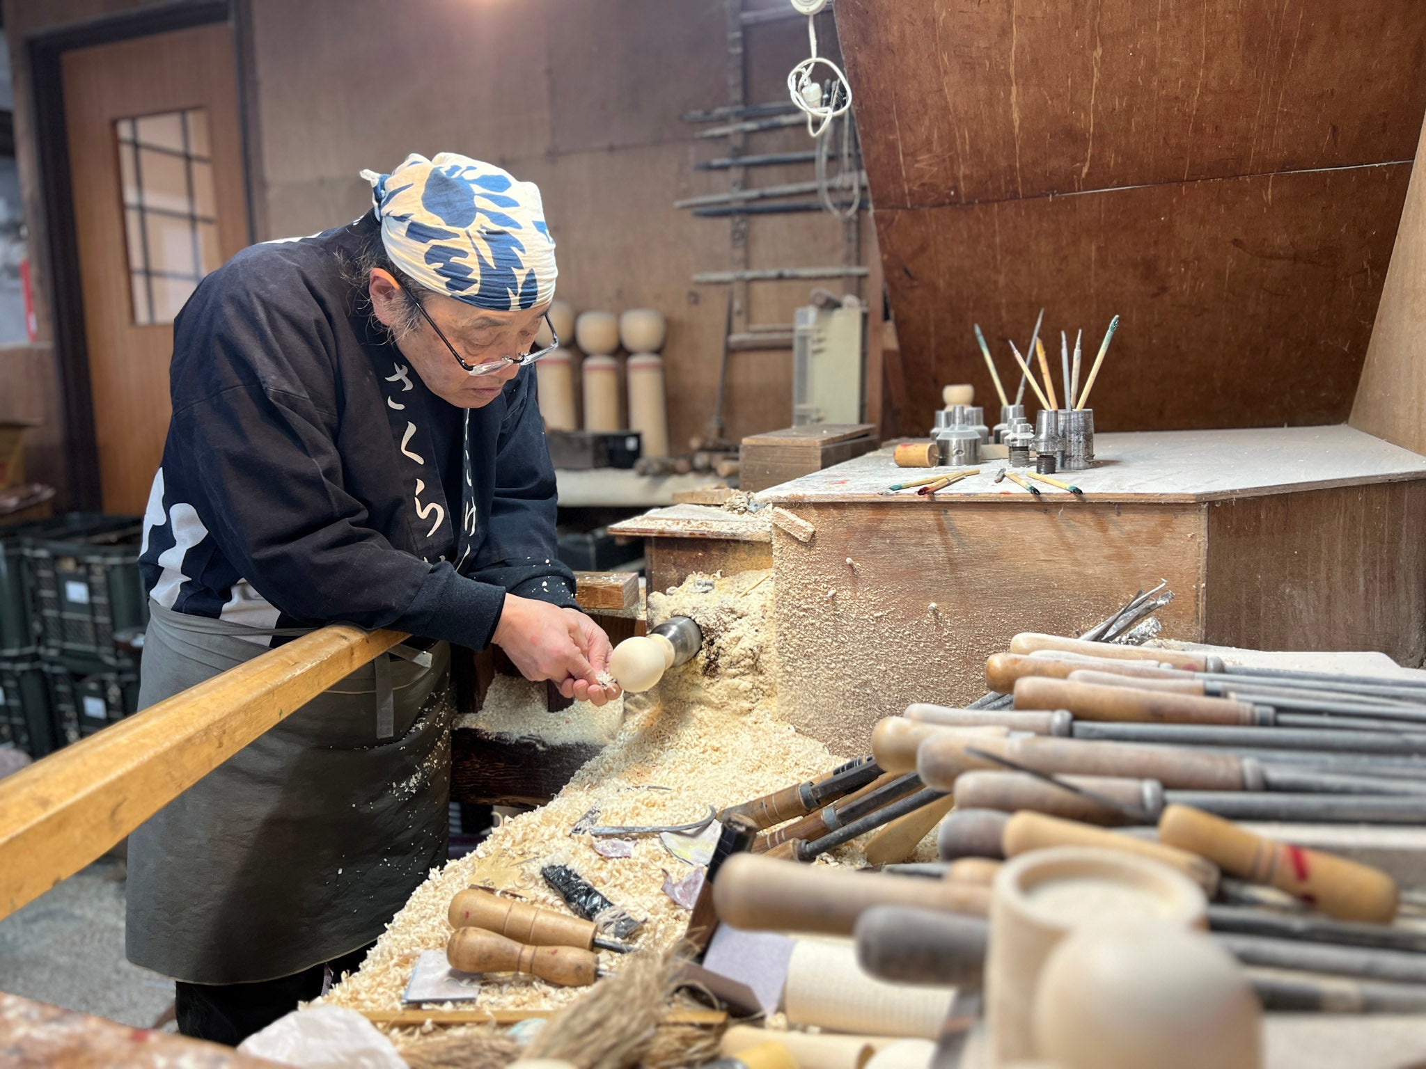
[[[371,272],[368,292],[376,318],[386,326],[396,326],[401,322],[398,302],[404,296],[396,281],[378,268]],[[472,368],[493,363],[502,356],[528,353],[549,311],[549,304],[543,304],[515,312],[492,312],[439,294],[428,296],[424,306],[461,359]],[[426,388],[456,408],[485,408],[519,373],[519,365],[509,363],[489,375],[471,375],[451,355],[431,324],[419,316],[414,329],[398,332],[396,348],[411,361]]]

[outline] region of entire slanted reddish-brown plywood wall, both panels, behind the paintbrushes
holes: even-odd
[[[1426,110],[1426,4],[838,0],[906,382],[971,325],[1098,344],[1101,429],[1348,416]],[[1002,371],[1008,348],[997,349]]]

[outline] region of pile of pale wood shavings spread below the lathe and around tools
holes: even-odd
[[[630,837],[633,855],[602,857],[589,835],[570,828],[592,808],[592,824],[683,824],[707,812],[826,774],[844,758],[780,720],[771,678],[773,583],[766,572],[690,576],[667,594],[653,594],[655,620],[693,617],[704,650],[670,670],[647,694],[630,696],[613,743],[585,764],[548,805],[520,814],[473,852],[432,869],[396,914],[355,975],[345,976],[321,1002],[358,1011],[394,1011],[422,951],[445,946],[452,897],[472,885],[522,895],[569,912],[540,877],[546,864],[566,864],[635,916],[647,918],[630,939],[637,948],[677,942],[689,911],[663,892],[690,865],[673,857],[656,835]],[[921,851],[927,847],[923,842]],[[934,844],[931,847],[934,854]],[[819,859],[866,864],[848,844]],[[623,955],[602,952],[600,966],[616,972]],[[588,989],[558,988],[532,978],[488,981],[475,1003],[443,1008],[556,1009]],[[394,1035],[399,1043],[401,1033]]]

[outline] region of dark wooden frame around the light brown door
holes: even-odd
[[[244,185],[248,201],[248,241],[257,241],[254,212],[261,167],[257,158],[257,111],[251,93],[251,0],[173,0],[134,11],[90,19],[24,37],[30,66],[30,100],[36,165],[48,254],[48,291],[54,362],[60,383],[60,412],[68,453],[70,505],[100,509],[98,442],[94,433],[94,401],[90,386],[88,345],[84,335],[84,294],[80,285],[78,234],[74,227],[74,190],[70,182],[68,131],[64,114],[64,53],[96,44],[150,37],[211,23],[232,27],[237,50],[238,124],[242,141]]]

